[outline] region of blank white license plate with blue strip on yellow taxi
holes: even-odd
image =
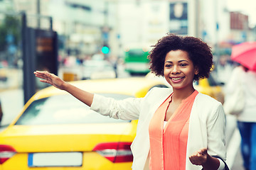
[[[28,166],[82,166],[82,152],[29,153]]]

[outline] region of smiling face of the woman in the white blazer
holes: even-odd
[[[164,61],[164,78],[173,89],[193,89],[193,77],[198,74],[188,52],[172,50],[166,54]]]

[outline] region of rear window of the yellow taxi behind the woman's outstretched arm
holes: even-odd
[[[117,100],[128,98],[122,94],[101,94]],[[56,125],[78,123],[122,123],[119,120],[100,115],[71,95],[50,96],[33,101],[18,118],[15,125]]]

